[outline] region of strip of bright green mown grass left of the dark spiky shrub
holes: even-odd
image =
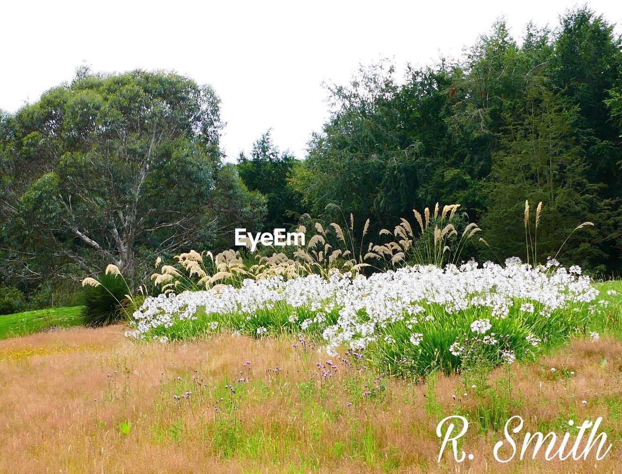
[[[48,327],[81,325],[81,310],[81,306],[72,306],[0,315],[0,340],[32,334]]]

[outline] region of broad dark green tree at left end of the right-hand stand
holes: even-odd
[[[350,85],[330,88],[332,116],[313,135],[298,181],[311,213],[327,215],[327,206],[336,204],[363,222],[370,217],[378,229],[419,206],[420,180],[435,171],[424,167],[426,146],[433,149],[445,133],[437,119],[444,85],[432,71],[409,74],[413,82],[403,93],[386,63],[361,68]]]

